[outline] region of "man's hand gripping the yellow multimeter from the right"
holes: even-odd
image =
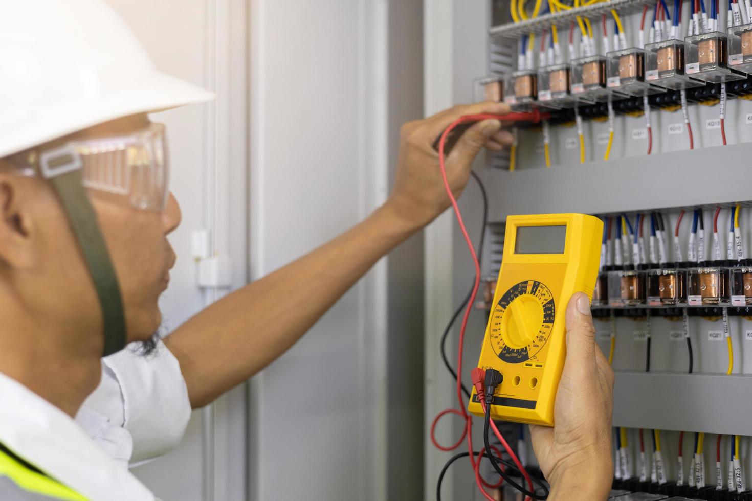
[[[566,310],[566,362],[553,428],[531,426],[532,446],[551,484],[549,501],[608,498],[614,371],[596,345],[590,301],[578,292]]]

